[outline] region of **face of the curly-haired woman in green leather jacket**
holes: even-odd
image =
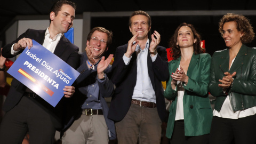
[[[234,47],[240,45],[242,42],[240,38],[243,36],[240,31],[237,30],[235,21],[225,22],[222,29],[222,37],[228,47]]]

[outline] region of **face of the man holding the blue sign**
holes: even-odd
[[[51,24],[53,25],[53,30],[57,34],[66,33],[73,26],[75,9],[71,5],[62,5],[57,16],[55,16],[54,12],[51,12],[50,18],[52,20]]]

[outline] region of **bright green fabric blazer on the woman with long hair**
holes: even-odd
[[[175,73],[180,65],[180,58],[169,62],[169,73]],[[188,84],[183,84],[185,93],[183,97],[184,126],[186,136],[197,136],[210,133],[212,122],[212,108],[208,97],[208,84],[210,82],[210,54],[193,54],[187,76]],[[176,108],[177,91],[171,87],[172,77],[166,83],[164,97],[173,100],[167,123],[166,137],[171,138],[173,133]]]

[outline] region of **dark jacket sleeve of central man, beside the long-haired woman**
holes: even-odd
[[[154,74],[159,81],[166,81],[169,78],[168,73],[168,59],[165,47],[159,46],[157,48],[157,58],[153,62]]]

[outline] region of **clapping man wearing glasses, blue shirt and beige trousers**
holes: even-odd
[[[114,86],[107,73],[111,71],[110,54],[107,59],[102,55],[108,50],[113,34],[102,28],[93,28],[87,36],[85,53],[81,56],[81,75],[76,79],[75,96],[72,98],[71,120],[63,130],[62,143],[108,143],[115,139],[114,122],[107,118],[108,106],[104,98],[111,97]],[[72,108],[73,107],[73,108]],[[72,124],[73,123],[73,124]]]

